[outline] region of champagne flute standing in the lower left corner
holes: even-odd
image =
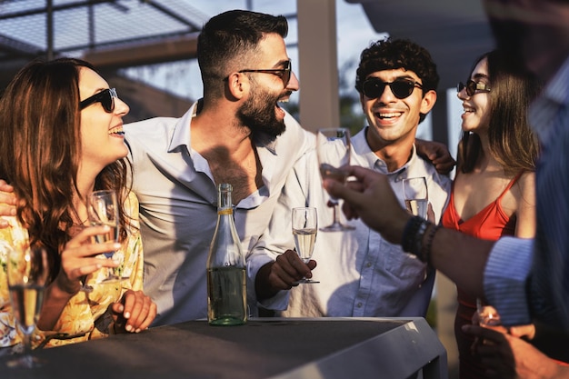
[[[33,368],[41,362],[32,355],[32,334],[39,318],[49,273],[44,248],[13,247],[8,252],[7,279],[12,310],[24,341],[24,354],[8,361],[8,367]]]

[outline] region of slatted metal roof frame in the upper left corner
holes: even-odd
[[[58,55],[99,68],[192,58],[208,19],[184,0],[0,0],[1,75]]]

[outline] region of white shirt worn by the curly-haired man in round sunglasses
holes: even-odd
[[[429,200],[439,220],[450,192],[448,176],[437,174],[434,166],[419,158],[414,149],[409,162],[388,173],[385,163],[367,145],[365,130],[352,138],[352,145],[352,165],[387,175],[402,207],[403,179],[427,177]],[[261,266],[274,261],[286,249],[294,248],[291,209],[305,204],[315,206],[318,223],[324,226],[331,224],[333,218],[327,200],[313,150],[294,166],[269,230],[247,260],[250,280],[254,280]],[[355,227],[354,231],[318,232],[313,278],[319,284],[299,284],[291,291],[281,291],[266,299],[262,305],[281,310],[284,316],[424,316],[431,299],[434,270],[414,255],[404,253],[400,245],[386,242],[363,222],[349,224]]]

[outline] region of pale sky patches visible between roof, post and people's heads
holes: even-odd
[[[271,15],[292,15],[296,13],[297,0],[186,0],[188,4],[200,13],[208,17],[220,14],[231,9],[251,9],[257,12],[264,12]],[[336,20],[337,20],[337,54],[338,67],[345,68],[345,75],[349,81],[355,78],[355,69],[359,61],[359,55],[370,42],[382,39],[384,33],[376,33],[364,13],[362,5],[349,4],[344,0],[336,0]],[[289,21],[289,34],[285,39],[289,45],[288,54],[293,61],[294,73],[299,77],[302,91],[302,73],[298,70],[298,51],[295,44],[297,42],[296,22]],[[197,99],[202,96],[202,83],[199,75],[199,68],[195,60],[170,63],[167,65],[154,65],[146,67],[135,67],[128,69],[126,75],[141,80],[149,85],[159,88],[166,88],[175,95]],[[353,86],[351,88],[355,91]],[[449,99],[449,149],[455,155],[455,145],[458,142],[460,132],[460,113],[462,106],[456,99],[454,89],[449,89],[447,98]],[[296,99],[297,100],[297,99]],[[293,98],[294,101],[294,98]],[[431,119],[427,117],[417,131],[417,136],[424,139],[431,139]]]

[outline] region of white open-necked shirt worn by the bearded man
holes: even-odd
[[[181,118],[125,125],[140,201],[145,293],[158,307],[153,326],[207,316],[205,262],[217,222],[217,189],[207,161],[191,148],[195,109]],[[235,206],[245,251],[265,231],[294,162],[314,145],[314,135],[291,115],[284,122],[286,131],[274,143],[256,146],[263,186]]]

